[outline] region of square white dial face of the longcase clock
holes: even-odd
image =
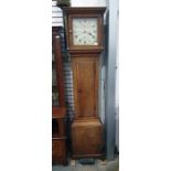
[[[73,19],[74,45],[97,45],[97,18]]]

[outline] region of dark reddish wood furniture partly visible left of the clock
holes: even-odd
[[[64,78],[62,67],[62,53],[60,35],[57,29],[52,30],[52,50],[54,60],[52,62],[53,70],[53,106],[52,106],[52,163],[66,164],[66,136],[65,122],[66,115],[65,99],[64,99]]]

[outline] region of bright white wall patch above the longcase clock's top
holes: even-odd
[[[106,7],[107,0],[71,0],[72,7]]]

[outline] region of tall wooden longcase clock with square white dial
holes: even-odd
[[[72,58],[75,117],[73,158],[103,156],[103,126],[98,117],[99,56],[106,8],[64,8],[67,50]]]

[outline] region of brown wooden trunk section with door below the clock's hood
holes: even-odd
[[[89,55],[88,55],[89,56]],[[97,117],[98,57],[94,54],[72,57],[75,119]]]

